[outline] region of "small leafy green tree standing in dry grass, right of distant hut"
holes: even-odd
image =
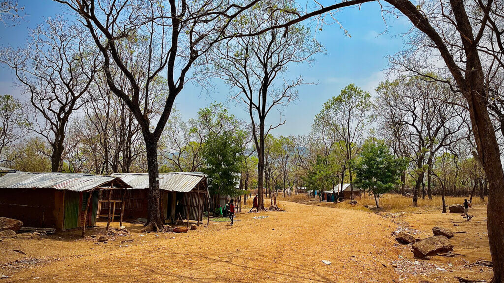
[[[406,165],[405,159],[390,154],[383,140],[372,137],[366,139],[360,154],[351,161],[355,185],[373,194],[376,208],[380,208],[380,196],[399,183]]]

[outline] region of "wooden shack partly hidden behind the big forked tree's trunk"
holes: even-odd
[[[118,192],[112,192],[112,205],[124,201],[124,219],[146,221],[149,177],[147,174],[112,174],[131,186],[121,199]],[[203,210],[208,209],[209,194],[207,180],[202,173],[162,173],[159,174],[161,190],[162,218],[165,223],[203,220]],[[102,195],[107,195],[106,189]],[[102,199],[106,200],[104,197]],[[117,207],[118,205],[116,205]],[[103,201],[100,215],[106,216],[113,206]],[[113,214],[113,213],[112,213]]]

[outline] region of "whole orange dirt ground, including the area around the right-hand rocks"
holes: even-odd
[[[418,282],[419,273],[436,282],[457,282],[455,275],[491,276],[487,267],[462,267],[464,260],[489,260],[484,205],[473,210],[472,221],[463,222],[459,215],[434,211],[396,217],[282,204],[287,211],[240,213],[234,226],[210,222],[187,234],[142,234],[140,225],[127,224],[130,236],[115,236],[106,244],[90,237],[104,233],[103,228],[87,231],[84,239],[79,232],[43,236],[40,241],[4,239],[0,274],[10,277],[0,283]],[[258,216],[266,218],[253,219]],[[397,244],[391,234],[417,230],[426,238],[434,223],[467,232],[452,240],[455,251],[465,256],[414,259],[411,247]],[[121,243],[125,239],[134,240]]]

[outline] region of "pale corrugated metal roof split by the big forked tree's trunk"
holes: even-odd
[[[121,178],[133,189],[149,187],[147,174],[112,174],[112,177]],[[159,188],[167,191],[190,192],[203,178],[205,175],[202,173],[162,173],[159,174]]]

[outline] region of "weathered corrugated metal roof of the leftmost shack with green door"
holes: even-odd
[[[87,191],[112,180],[120,187],[128,187],[119,178],[74,173],[12,173],[0,177],[0,188],[54,188],[57,190]]]

